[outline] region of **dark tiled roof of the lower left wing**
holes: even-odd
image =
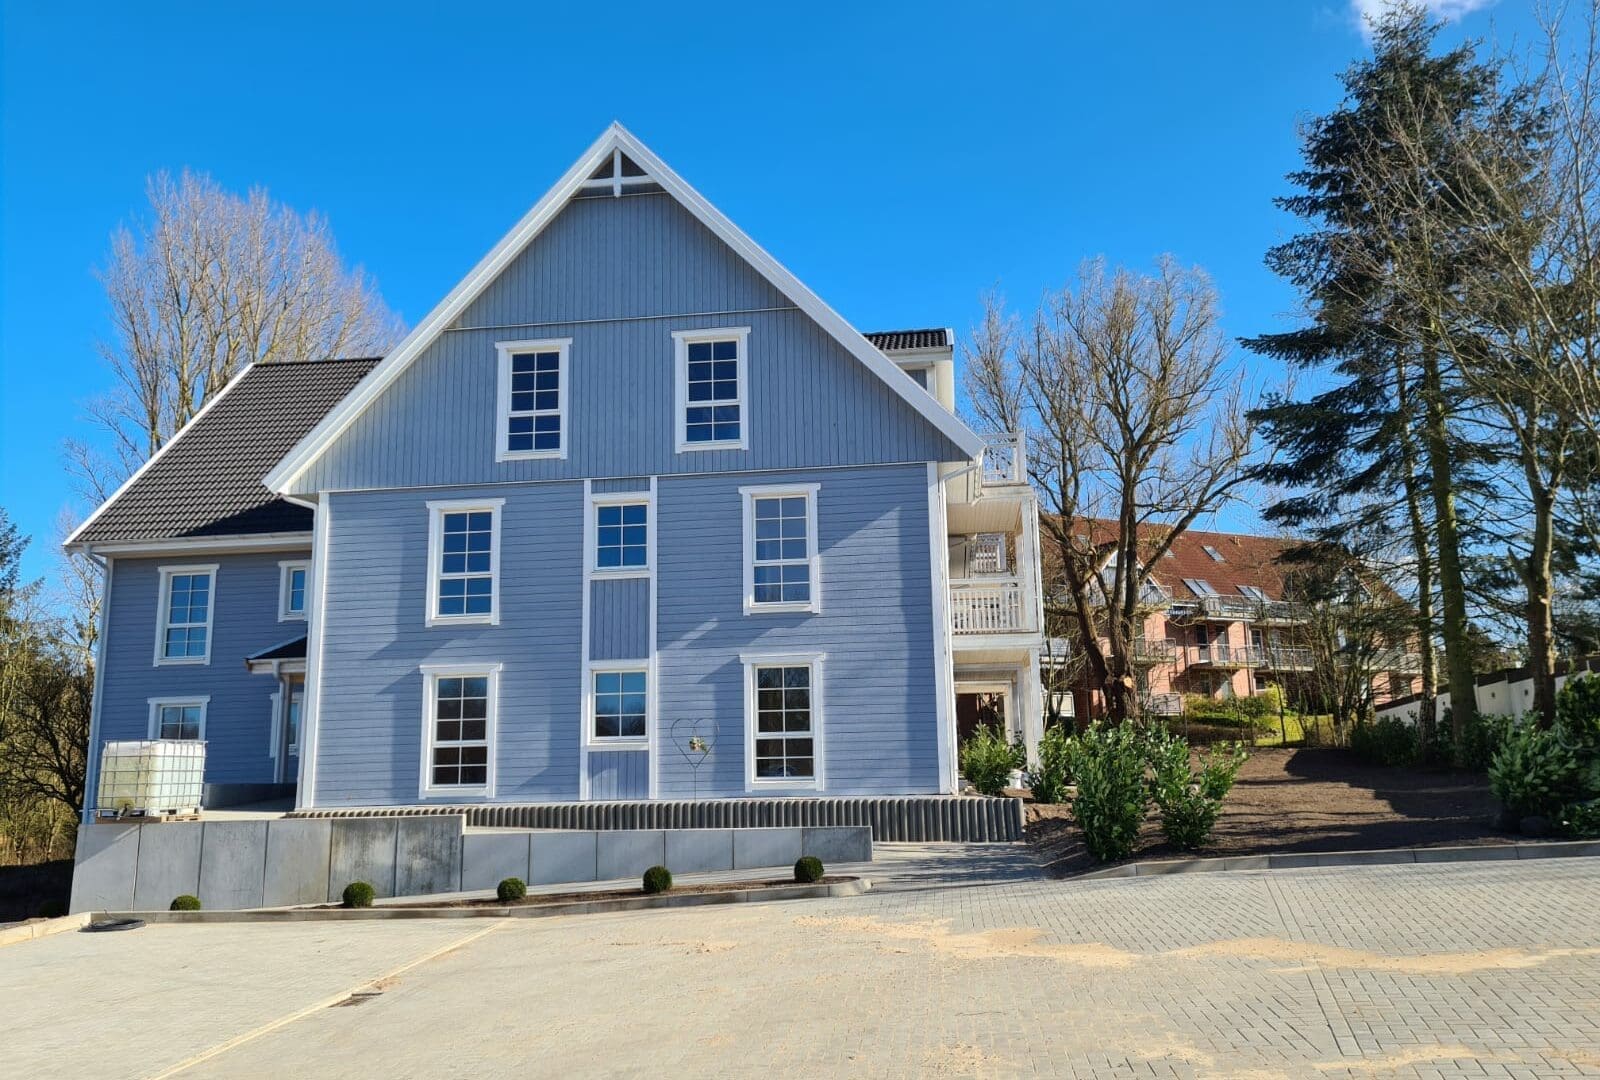
[[[309,533],[310,509],[280,499],[261,475],[376,365],[352,358],[246,366],[67,546]]]

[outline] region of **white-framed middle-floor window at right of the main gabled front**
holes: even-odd
[[[744,498],[744,611],[821,611],[818,485],[739,488]]]

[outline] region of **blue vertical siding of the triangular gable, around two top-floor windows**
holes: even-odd
[[[597,322],[584,322],[597,320]],[[301,493],[965,454],[666,195],[581,200],[296,482]],[[674,330],[749,326],[747,451],[674,450]],[[565,459],[494,461],[496,341],[571,338]]]

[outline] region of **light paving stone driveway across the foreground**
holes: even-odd
[[[1597,859],[936,878],[488,925],[62,934],[0,950],[0,1075],[1600,1077]]]

